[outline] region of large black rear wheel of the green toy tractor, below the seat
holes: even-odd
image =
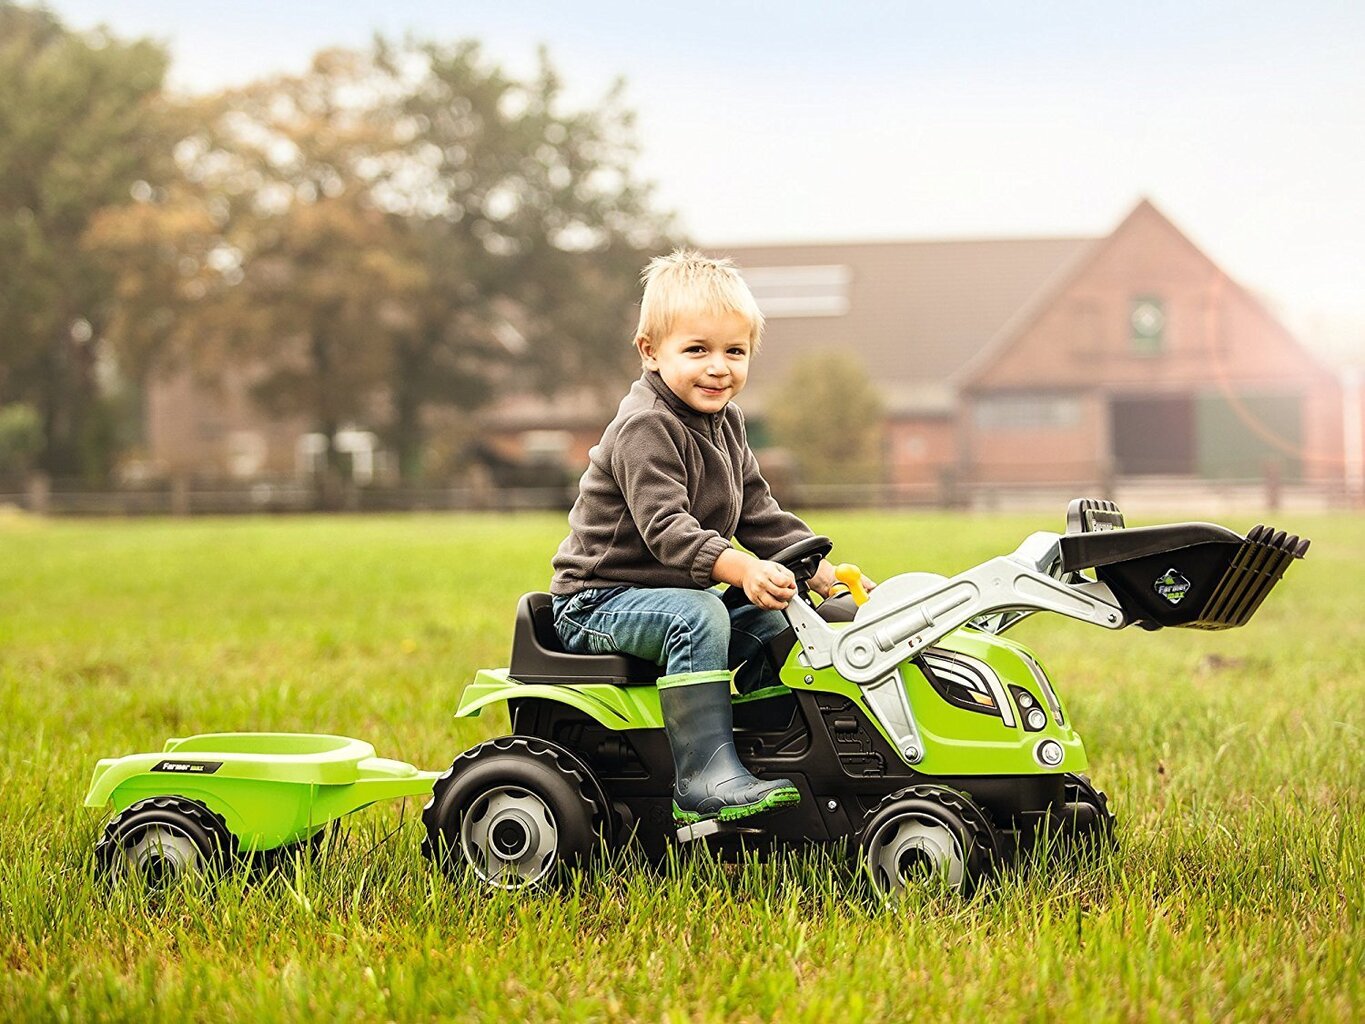
[[[472,871],[524,889],[581,864],[612,834],[610,804],[569,751],[531,736],[480,743],[455,759],[422,811],[422,852],[448,875]]]

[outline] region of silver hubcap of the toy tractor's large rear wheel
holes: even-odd
[[[490,885],[520,889],[545,878],[560,848],[560,829],[530,789],[498,786],[475,797],[460,822],[465,863]]]

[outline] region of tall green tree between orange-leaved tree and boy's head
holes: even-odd
[[[404,296],[412,318],[390,378],[389,437],[412,478],[429,407],[468,412],[506,381],[546,395],[583,381],[616,388],[631,363],[636,273],[670,223],[631,169],[620,85],[569,111],[543,51],[526,82],[474,42],[379,41],[374,56],[408,137],[405,173],[381,194],[423,269]]]

